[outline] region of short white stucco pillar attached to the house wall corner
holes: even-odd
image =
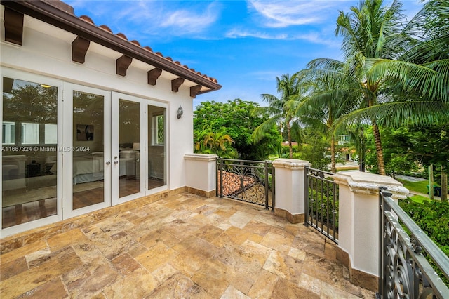
[[[184,156],[187,192],[203,197],[215,197],[217,157],[215,154],[186,154]]]

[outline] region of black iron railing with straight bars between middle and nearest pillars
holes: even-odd
[[[333,175],[306,168],[304,224],[338,244],[338,184]]]

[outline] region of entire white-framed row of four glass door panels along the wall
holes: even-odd
[[[1,70],[3,234],[168,189],[168,103]]]

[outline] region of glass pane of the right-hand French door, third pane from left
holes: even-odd
[[[119,99],[119,198],[140,193],[140,102]]]

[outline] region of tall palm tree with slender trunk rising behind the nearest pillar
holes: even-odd
[[[342,50],[349,65],[353,65],[352,75],[361,84],[363,102],[361,108],[370,108],[379,105],[382,100],[380,93],[389,88],[384,77],[367,76],[364,68],[367,58],[394,59],[402,51],[403,15],[401,3],[394,0],[391,6],[382,6],[382,0],[365,0],[357,7],[351,7],[351,13],[340,11],[337,18],[335,35],[343,37]],[[358,117],[357,117],[358,116]],[[360,123],[360,114],[348,114],[347,119],[357,119]],[[344,119],[344,118],[343,118]],[[371,115],[366,121],[373,127],[378,171],[385,175],[382,141],[378,124],[379,117]],[[354,123],[353,123],[354,124]]]

